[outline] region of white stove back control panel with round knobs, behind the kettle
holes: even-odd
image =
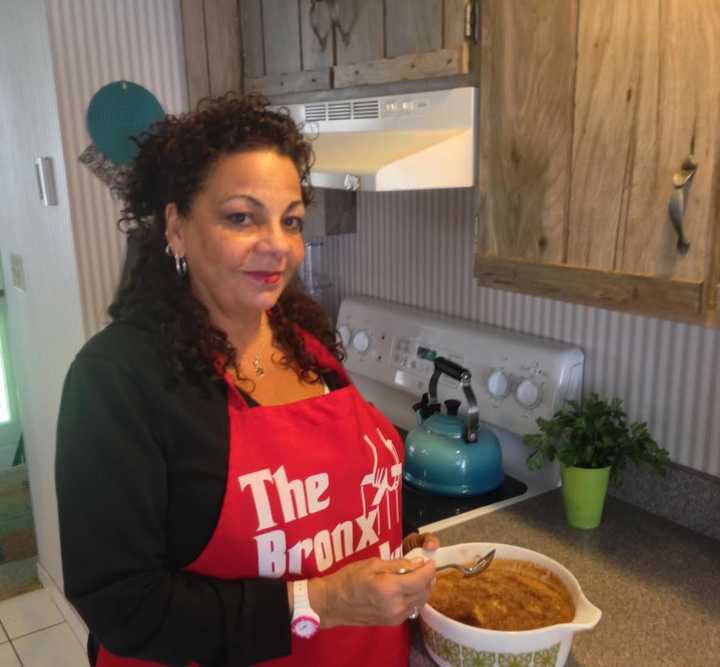
[[[380,392],[391,413],[408,409],[409,397],[398,392],[427,391],[433,363],[418,357],[418,347],[469,369],[481,418],[515,433],[534,432],[538,417],[581,396],[584,355],[573,345],[365,297],[342,302],[337,327],[356,381],[396,390]],[[464,398],[444,375],[438,395]]]

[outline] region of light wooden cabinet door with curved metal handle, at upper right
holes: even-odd
[[[568,262],[702,282],[720,141],[720,3],[593,0],[579,18]],[[699,168],[683,255],[668,202],[690,153]]]

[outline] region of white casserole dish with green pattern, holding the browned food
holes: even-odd
[[[491,549],[495,549],[496,558],[529,561],[554,573],[575,604],[572,622],[537,630],[485,630],[454,621],[426,604],[420,612],[420,627],[428,653],[442,667],[562,667],[573,635],[594,628],[602,612],[590,603],[577,579],[560,563],[537,551],[491,542],[455,544],[434,552],[414,549],[407,558],[432,558],[437,565],[468,563]]]

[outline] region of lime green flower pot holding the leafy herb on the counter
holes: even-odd
[[[560,466],[565,516],[573,528],[597,528],[602,520],[610,467]]]

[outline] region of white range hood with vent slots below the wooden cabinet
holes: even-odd
[[[311,182],[345,190],[475,183],[477,88],[288,105],[315,151]]]

